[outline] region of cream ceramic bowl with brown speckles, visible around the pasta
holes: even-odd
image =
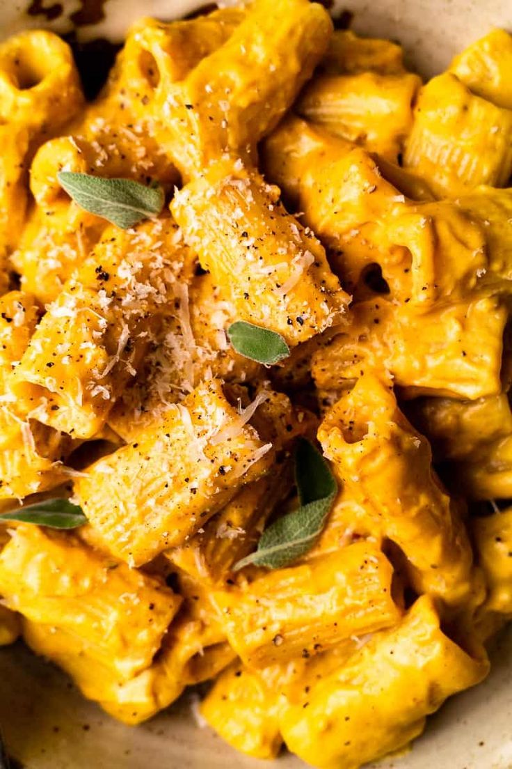
[[[57,32],[76,27],[84,41],[120,40],[141,15],[174,18],[197,5],[202,3],[0,0],[0,38],[42,26]],[[439,72],[454,52],[493,26],[512,31],[512,0],[346,0],[336,8],[354,12],[356,31],[400,41],[424,75]],[[512,769],[512,629],[496,642],[492,660],[484,684],[448,701],[413,751],[382,761],[379,769]],[[0,650],[0,724],[15,758],[13,769],[304,766],[289,755],[268,764],[236,754],[208,727],[198,726],[194,704],[194,695],[185,695],[149,723],[126,727],[84,701],[64,674],[21,645]]]

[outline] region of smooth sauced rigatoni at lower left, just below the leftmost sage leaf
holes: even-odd
[[[9,608],[85,641],[121,680],[150,664],[181,603],[163,581],[30,526],[5,545],[0,582]]]

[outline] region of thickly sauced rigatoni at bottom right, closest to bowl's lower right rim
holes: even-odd
[[[303,702],[285,707],[282,734],[305,761],[352,769],[408,744],[426,715],[486,672],[485,657],[450,641],[431,599],[423,597],[398,627],[375,635],[341,671],[311,687]]]

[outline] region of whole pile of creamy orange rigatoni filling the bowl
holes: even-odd
[[[322,769],[486,676],[510,68],[495,30],[423,84],[309,0],[144,18],[89,103],[60,38],[0,45],[0,642],[126,724],[212,681],[224,740]]]

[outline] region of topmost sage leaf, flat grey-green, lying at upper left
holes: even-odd
[[[146,187],[132,179],[107,179],[73,171],[58,171],[57,178],[81,208],[124,230],[157,216],[164,207],[160,185]]]

